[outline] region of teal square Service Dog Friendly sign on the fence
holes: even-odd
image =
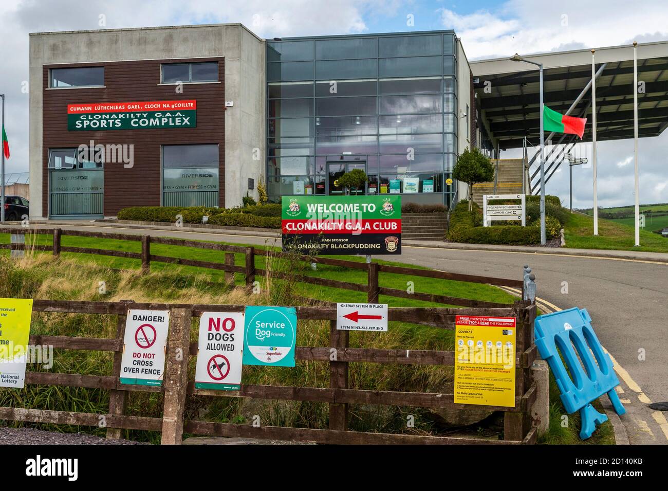
[[[246,307],[244,365],[295,366],[297,309]]]

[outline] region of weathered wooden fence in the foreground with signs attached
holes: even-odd
[[[111,351],[114,353],[114,373],[112,375],[27,371],[25,376],[25,383],[27,384],[108,389],[111,391],[109,410],[107,414],[89,414],[0,407],[0,419],[49,424],[104,426],[107,428],[108,438],[120,438],[120,432],[123,428],[150,430],[162,432],[162,444],[180,444],[184,432],[206,436],[307,441],[321,444],[532,444],[536,441],[536,428],[532,427],[530,422],[530,407],[536,399],[536,387],[530,369],[536,357],[536,346],[532,343],[536,305],[528,301],[517,301],[514,305],[505,307],[391,307],[388,309],[390,321],[418,324],[416,329],[420,328],[419,325],[454,329],[456,315],[491,315],[516,318],[516,397],[514,407],[484,406],[489,410],[504,412],[503,440],[422,436],[417,434],[381,434],[348,430],[349,404],[450,408],[452,410],[480,409],[482,406],[456,404],[452,393],[351,389],[348,375],[348,367],[351,362],[454,365],[456,352],[351,348],[349,347],[349,333],[336,329],[335,307],[296,307],[298,325],[299,321],[305,320],[330,321],[329,346],[298,346],[295,353],[298,360],[329,363],[329,388],[242,384],[239,391],[195,389],[194,381],[188,376],[188,361],[190,357],[194,357],[198,353],[198,343],[190,342],[193,321],[205,311],[239,312],[243,311],[244,308],[243,305],[35,300],[33,303],[33,311],[35,312],[117,316],[116,337],[110,339],[51,335],[32,335],[30,337],[30,343],[33,345],[51,345],[57,349]],[[122,385],[119,381],[128,309],[170,310],[166,368],[162,387]],[[195,325],[198,325],[198,323],[195,323]],[[335,353],[337,353],[336,361],[331,361],[332,349],[335,349]],[[162,418],[126,415],[128,391],[164,393]],[[184,420],[184,407],[188,395],[329,403],[329,429],[286,428],[264,426],[263,424],[253,426],[253,424]]]

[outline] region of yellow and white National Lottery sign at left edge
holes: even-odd
[[[31,299],[0,299],[0,387],[23,387],[32,314]]]

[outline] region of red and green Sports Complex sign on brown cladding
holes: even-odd
[[[67,104],[67,130],[158,130],[196,128],[197,101]]]

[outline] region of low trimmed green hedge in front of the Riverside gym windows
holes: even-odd
[[[184,223],[202,223],[202,216],[208,216],[208,223],[227,226],[253,226],[260,228],[281,227],[281,205],[268,204],[240,208],[205,208],[204,206],[132,206],[118,212],[119,220],[142,222],[176,221],[176,215],[183,217]]]

